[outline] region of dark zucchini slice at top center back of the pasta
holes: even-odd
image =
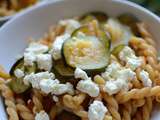
[[[100,23],[103,23],[107,21],[108,16],[103,12],[97,11],[97,12],[87,13],[80,18],[82,23],[88,23],[94,19],[97,19]]]

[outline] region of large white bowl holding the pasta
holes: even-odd
[[[157,46],[159,45],[160,19],[134,3],[125,0],[53,0],[18,14],[2,26],[0,29],[0,64],[9,70],[15,61],[15,56],[23,52],[29,37],[40,38],[48,31],[49,26],[58,20],[79,16],[89,11],[103,11],[109,16],[132,13],[149,26]],[[1,120],[6,120],[2,103],[0,111],[2,111],[0,112]],[[158,110],[155,110],[152,120],[159,119]]]

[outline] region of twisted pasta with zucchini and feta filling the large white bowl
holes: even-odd
[[[31,41],[0,90],[15,120],[149,120],[159,61],[143,21],[102,12],[60,20]]]

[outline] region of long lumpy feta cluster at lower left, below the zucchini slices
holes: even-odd
[[[31,84],[33,88],[40,89],[42,92],[55,95],[61,95],[64,93],[74,94],[73,85],[70,83],[60,84],[59,80],[54,79],[53,73],[40,72],[37,74],[31,73],[26,75],[23,79],[25,84]]]

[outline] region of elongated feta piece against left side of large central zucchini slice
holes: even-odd
[[[61,50],[62,50],[62,45],[65,40],[67,40],[70,37],[70,34],[64,34],[62,36],[58,36],[56,40],[53,42],[52,49],[50,53],[52,54],[53,58],[55,60],[58,60],[62,57],[61,55]]]

